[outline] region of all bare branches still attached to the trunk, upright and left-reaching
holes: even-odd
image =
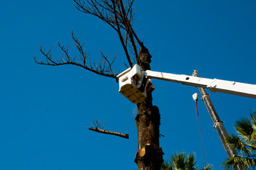
[[[83,13],[91,14],[107,23],[113,30],[118,33],[119,40],[126,55],[126,60],[130,67],[133,67],[135,62],[140,63],[138,57],[138,45],[144,47],[133,30],[133,2],[134,0],[73,0],[74,6]],[[101,60],[99,63],[91,62],[90,53],[84,50],[85,41],[80,41],[79,36],[74,35],[72,31],[72,39],[78,51],[78,55],[71,55],[69,47],[65,47],[58,42],[62,55],[54,57],[52,55],[52,48],[45,50],[40,47],[40,52],[45,57],[40,62],[34,57],[38,64],[45,64],[51,66],[73,64],[84,69],[94,72],[96,74],[116,78],[116,73],[113,71],[113,62],[116,60],[114,56],[109,60],[108,55],[101,52]],[[126,63],[125,63],[126,65]]]

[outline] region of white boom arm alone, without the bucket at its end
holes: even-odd
[[[213,92],[221,92],[225,94],[234,94],[249,98],[256,98],[256,85],[244,84],[235,81],[226,81],[221,79],[206,79],[201,77],[192,77],[184,74],[170,74],[163,72],[145,71],[145,77],[150,79],[161,79],[172,81],[189,86],[198,86],[210,89]]]

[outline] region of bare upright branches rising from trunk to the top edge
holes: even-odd
[[[138,62],[137,42],[144,47],[138,35],[133,30],[133,2],[134,0],[74,0],[74,6],[84,13],[96,16],[116,30],[126,54],[130,67],[133,66],[133,58]],[[128,50],[128,44],[132,46],[132,52]]]

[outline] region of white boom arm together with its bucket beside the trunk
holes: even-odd
[[[132,103],[139,103],[145,99],[147,96],[146,91],[148,91],[151,86],[148,85],[151,84],[150,79],[161,79],[189,86],[207,88],[213,92],[218,91],[226,94],[256,98],[255,84],[244,84],[221,79],[206,79],[183,74],[153,72],[151,70],[143,72],[140,70],[138,64],[135,64],[133,68],[126,69],[126,71],[118,74],[117,78],[119,79],[119,91]]]

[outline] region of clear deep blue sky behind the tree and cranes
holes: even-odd
[[[152,55],[154,71],[256,84],[255,1],[139,1],[134,28]],[[0,169],[136,169],[135,104],[118,93],[114,79],[74,66],[35,64],[40,45],[61,55],[57,41],[72,50],[71,30],[87,39],[91,60],[99,51],[115,55],[116,70],[126,69],[116,33],[72,1],[0,1]],[[160,108],[164,158],[195,152],[204,165],[191,95],[194,87],[153,80],[153,103]],[[213,94],[211,100],[226,130],[256,109],[255,99]],[[227,155],[204,103],[199,116],[206,162],[214,169]],[[89,131],[92,120],[130,140]]]

